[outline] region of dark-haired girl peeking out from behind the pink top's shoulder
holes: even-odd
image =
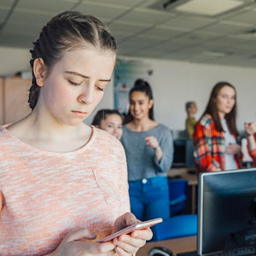
[[[115,109],[101,109],[99,110],[91,125],[95,125],[96,128],[108,131],[117,139],[120,139],[123,134],[123,117]]]

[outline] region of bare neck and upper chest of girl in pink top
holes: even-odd
[[[50,152],[71,152],[89,142],[90,126],[55,124],[51,119],[38,117],[34,111],[8,128],[21,142]]]

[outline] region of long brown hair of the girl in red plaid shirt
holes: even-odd
[[[235,90],[235,105],[232,108],[232,110],[230,111],[230,113],[225,114],[225,119],[227,121],[227,125],[229,127],[230,133],[234,134],[235,136],[238,136],[239,133],[236,130],[236,88],[232,84],[230,84],[228,82],[218,82],[217,84],[214,85],[214,87],[212,88],[212,92],[211,92],[209,101],[207,103],[207,108],[206,108],[205,112],[202,114],[202,116],[204,116],[207,113],[210,114],[214,121],[216,130],[224,131],[223,127],[221,125],[221,122],[220,122],[217,104],[216,104],[216,99],[217,99],[218,93],[224,86],[230,86],[233,90]]]

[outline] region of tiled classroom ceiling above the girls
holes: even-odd
[[[72,9],[105,22],[119,55],[256,67],[255,0],[229,0],[244,4],[215,16],[178,11],[179,1],[192,0],[0,0],[0,45],[31,48],[53,15]]]

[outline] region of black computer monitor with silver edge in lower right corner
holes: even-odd
[[[201,173],[198,189],[197,253],[255,247],[256,168]]]

